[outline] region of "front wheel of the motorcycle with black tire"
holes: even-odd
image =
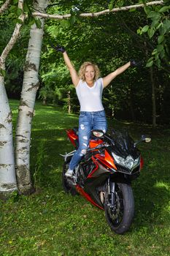
[[[115,184],[115,203],[105,191],[105,217],[112,231],[123,234],[128,231],[134,219],[134,195],[128,184]]]

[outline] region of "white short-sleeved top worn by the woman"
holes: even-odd
[[[89,87],[85,81],[80,80],[77,87],[77,97],[80,101],[80,111],[101,111],[104,107],[101,102],[104,89],[103,79],[99,78],[93,87]]]

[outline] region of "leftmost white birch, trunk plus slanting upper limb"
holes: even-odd
[[[6,1],[1,10],[7,9],[9,1]],[[18,2],[18,7],[23,9],[23,0]],[[20,20],[25,16],[20,15]],[[15,157],[12,136],[12,113],[9,107],[7,93],[4,87],[5,60],[9,51],[15,44],[22,24],[17,23],[11,39],[0,56],[0,193],[10,193],[17,189],[15,176]]]

